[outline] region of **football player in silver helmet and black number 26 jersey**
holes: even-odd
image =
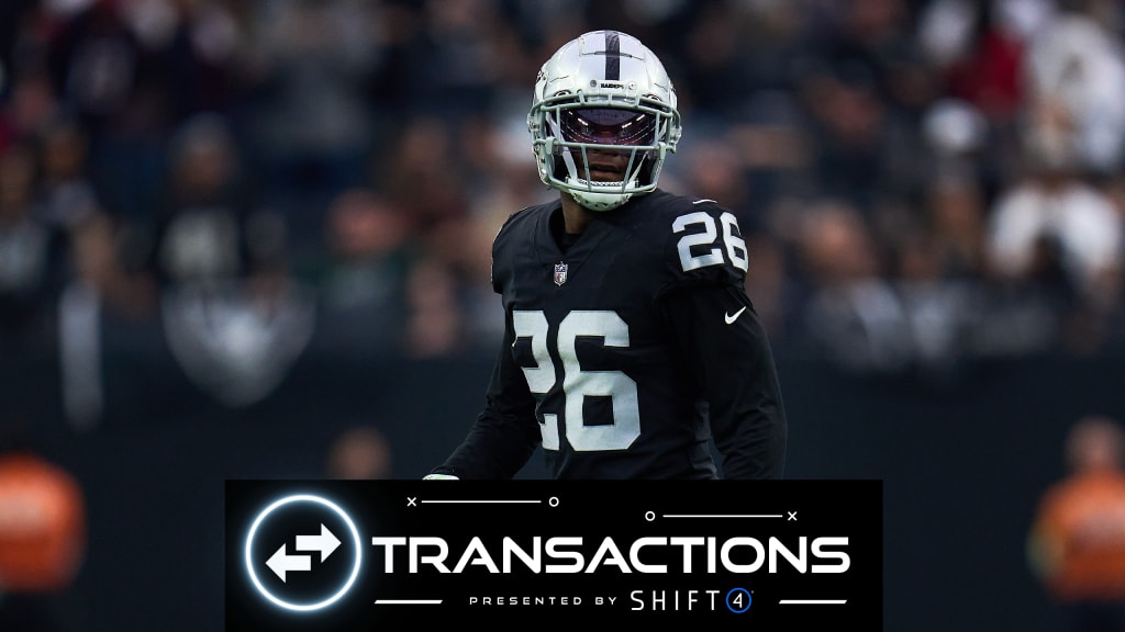
[[[662,62],[623,33],[582,35],[540,70],[528,126],[559,199],[495,238],[500,358],[425,478],[512,478],[537,446],[559,479],[780,478],[785,409],[738,220],[657,188],[681,134]]]

